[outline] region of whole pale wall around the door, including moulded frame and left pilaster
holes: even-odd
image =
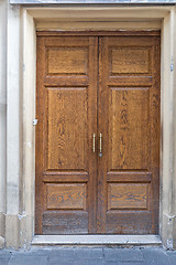
[[[172,57],[174,61],[176,59],[176,9],[173,7],[30,9],[10,7],[8,1],[7,12],[4,9],[4,1],[0,0],[0,26],[3,29],[1,31],[0,28],[0,146],[2,146],[0,150],[0,236],[4,237],[6,246],[28,247],[34,236],[35,127],[32,121],[35,118],[36,28],[41,30],[161,28],[160,234],[165,247],[173,248],[173,244],[176,247],[176,123],[174,123],[176,120],[174,107],[176,73],[175,68],[170,71]],[[79,23],[78,21],[81,20],[84,22]],[[100,22],[102,20],[111,22],[107,25]]]

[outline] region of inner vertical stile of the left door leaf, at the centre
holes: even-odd
[[[88,136],[88,168],[89,168],[89,188],[88,188],[88,205],[89,205],[89,233],[94,234],[97,230],[97,155],[98,155],[98,131],[97,131],[97,89],[98,89],[98,38],[89,38],[89,94],[88,94],[88,109],[89,109],[89,136]],[[94,152],[94,134],[95,152]]]

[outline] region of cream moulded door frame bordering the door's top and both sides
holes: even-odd
[[[152,9],[152,10],[151,10]],[[95,21],[96,8],[75,8],[70,18],[69,8],[55,8],[54,17],[57,21],[54,22],[53,26],[59,29],[59,23],[66,23],[73,20],[72,26],[74,28],[75,18],[81,19],[82,12],[87,11],[87,23]],[[73,9],[72,9],[73,10]],[[123,11],[123,12],[122,12]],[[157,11],[157,12],[156,12]],[[136,30],[139,23],[138,20],[143,20],[142,30],[153,29],[151,20],[151,12],[153,19],[161,21],[161,169],[160,169],[160,235],[163,244],[167,248],[173,247],[173,242],[176,236],[174,235],[174,214],[172,215],[174,208],[174,110],[170,105],[174,106],[174,71],[170,71],[170,60],[174,54],[174,23],[176,23],[176,14],[174,8],[136,8],[135,12],[133,8],[99,8],[99,14],[105,20],[111,21],[112,18],[117,18],[120,29],[127,30],[129,24],[122,21],[122,17],[133,22],[131,30]],[[32,120],[35,118],[35,60],[36,60],[36,26],[41,26],[42,30],[47,21],[54,17],[51,13],[50,8],[23,8],[22,9],[23,20],[23,59],[22,63],[25,65],[25,72],[22,75],[22,105],[25,106],[23,110],[23,209],[25,209],[25,242],[31,244],[32,237],[34,236],[34,209],[35,209],[35,127],[32,125]],[[144,15],[145,19],[142,19]],[[51,18],[53,17],[53,18]],[[119,22],[118,22],[119,21]],[[36,22],[36,23],[35,23]],[[147,22],[147,23],[146,23]],[[40,25],[41,23],[41,25]],[[108,22],[107,22],[108,23]],[[156,22],[155,22],[156,23]],[[50,24],[50,23],[48,23]],[[140,23],[141,24],[141,23]],[[70,25],[69,25],[70,26]],[[103,25],[105,26],[105,25]],[[140,25],[141,26],[141,25]],[[52,24],[50,24],[50,29]],[[97,28],[96,28],[97,30]],[[32,56],[33,55],[33,56]],[[173,59],[174,60],[174,59]],[[169,87],[169,89],[168,89]],[[167,118],[166,118],[167,117]],[[168,118],[169,117],[169,118]],[[170,192],[172,191],[172,192]],[[28,225],[26,225],[28,224]],[[24,225],[24,224],[23,224]],[[175,237],[174,237],[175,236]],[[20,237],[20,235],[19,235]],[[21,240],[21,241],[22,241]]]

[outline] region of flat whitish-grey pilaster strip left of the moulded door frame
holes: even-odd
[[[20,7],[7,4],[7,209],[6,246],[19,246],[21,214]]]

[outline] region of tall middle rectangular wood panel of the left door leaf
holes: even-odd
[[[86,170],[87,89],[47,88],[46,119],[46,170]]]

